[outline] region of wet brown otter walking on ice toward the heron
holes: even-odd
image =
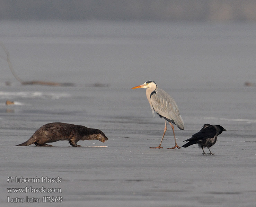
[[[72,147],[81,147],[77,145],[79,140],[97,139],[105,142],[108,138],[99,129],[91,129],[81,125],[67,124],[61,122],[48,123],[40,127],[27,141],[16,146],[36,146],[52,147],[47,142],[55,142],[60,140],[68,140]]]

